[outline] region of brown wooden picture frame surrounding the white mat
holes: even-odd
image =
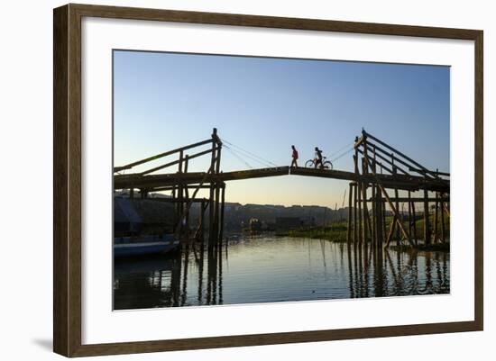
[[[83,345],[81,342],[81,19],[85,16],[474,41],[474,320]],[[56,353],[63,356],[95,356],[482,330],[482,31],[98,5],[65,5],[56,8],[53,13],[53,26],[53,349]]]

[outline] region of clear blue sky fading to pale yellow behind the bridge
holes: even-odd
[[[289,165],[294,144],[302,166],[316,146],[331,159],[351,149],[364,128],[425,167],[449,171],[449,86],[449,68],[438,66],[115,50],[115,166],[205,140],[214,127],[280,166]],[[334,163],[353,170],[351,153]],[[266,167],[223,149],[222,170],[248,166]],[[207,158],[190,165],[207,168]],[[260,178],[230,182],[226,201],[334,208],[345,188],[303,176]]]

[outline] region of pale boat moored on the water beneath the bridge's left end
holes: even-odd
[[[171,234],[163,236],[117,237],[114,239],[114,257],[158,255],[178,248],[179,239]]]

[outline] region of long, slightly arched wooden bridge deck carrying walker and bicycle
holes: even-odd
[[[199,183],[209,182],[225,182],[241,179],[253,179],[269,176],[316,176],[322,178],[339,179],[346,181],[360,180],[366,183],[375,183],[376,178],[372,175],[357,176],[353,172],[335,169],[314,169],[306,167],[269,167],[259,169],[249,169],[234,172],[219,173],[218,175],[210,175],[206,172],[190,172],[190,173],[170,173],[161,175],[146,175],[129,174],[115,175],[114,188],[147,188],[153,189],[168,185],[194,185]],[[427,189],[429,191],[449,192],[449,180],[445,179],[425,179],[419,176],[404,176],[404,175],[378,175],[381,184],[387,188],[397,187],[401,190],[415,191],[418,189]]]

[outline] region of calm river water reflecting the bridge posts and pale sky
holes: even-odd
[[[115,310],[449,293],[449,253],[321,239],[231,238],[222,249],[115,262]]]

